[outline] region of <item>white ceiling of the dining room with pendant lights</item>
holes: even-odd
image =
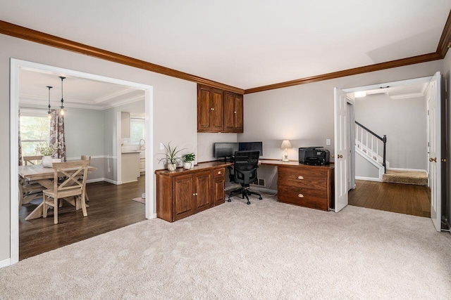
[[[54,108],[59,107],[61,105],[61,79],[59,76],[60,74],[20,70],[20,105],[32,107],[45,105],[47,107],[49,104],[47,86],[52,86],[50,105]],[[130,89],[128,86],[119,84],[66,76],[66,79],[63,79],[63,99],[65,107],[106,110],[137,101],[144,103],[144,91]],[[131,105],[130,107],[135,106]],[[144,108],[141,107],[140,110],[144,111]]]

